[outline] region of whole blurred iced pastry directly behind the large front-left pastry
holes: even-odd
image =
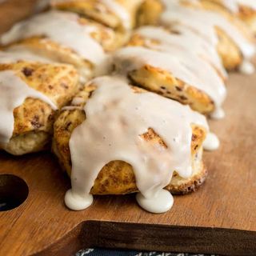
[[[74,40],[75,38],[75,40]],[[49,11],[19,22],[3,34],[5,48],[22,46],[54,62],[74,65],[83,81],[110,69],[107,52],[122,44],[122,36],[77,14]]]

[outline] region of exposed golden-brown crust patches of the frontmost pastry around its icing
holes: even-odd
[[[77,97],[83,98],[86,102],[94,88],[94,85],[87,86],[85,90],[82,90],[77,95]],[[137,87],[134,87],[134,90],[136,92],[142,92],[142,90]],[[86,114],[82,110],[83,105],[84,104],[79,105],[78,109],[62,110],[62,113],[54,123],[54,141],[52,148],[57,155],[62,168],[66,170],[69,175],[71,173],[72,165],[69,141],[75,127],[86,119]],[[201,172],[199,169],[202,168],[202,142],[206,136],[206,131],[199,126],[192,126],[192,129],[193,137],[191,151],[193,168],[194,170],[197,170],[197,175],[194,176],[194,182],[198,182],[199,184],[199,180],[202,180],[200,174],[204,174],[204,172]],[[142,134],[142,137],[151,143],[158,143],[161,146],[166,146],[165,142],[162,141],[162,138],[160,138],[152,129],[149,129],[146,134]],[[183,179],[182,185],[176,188],[173,186],[172,190],[176,190],[177,193],[179,193],[181,187],[187,187],[186,183],[190,184],[191,180],[193,180],[193,178]],[[172,182],[170,184],[172,184]],[[98,174],[91,190],[91,194],[127,194],[137,190],[132,166],[126,162],[112,161],[106,164]]]

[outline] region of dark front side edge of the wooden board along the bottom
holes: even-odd
[[[256,232],[214,227],[86,221],[58,242],[33,255],[74,255],[78,250],[91,247],[253,256],[256,251]]]

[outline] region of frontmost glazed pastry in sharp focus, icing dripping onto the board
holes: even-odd
[[[137,134],[134,145],[134,133],[144,122],[151,124],[147,123]],[[179,122],[182,123],[178,125]],[[206,178],[202,142],[207,130],[206,119],[188,106],[130,87],[124,78],[95,78],[78,93],[71,106],[62,109],[54,123],[53,151],[72,179],[72,192],[66,194],[67,206],[73,210],[86,208],[91,202],[89,193],[127,194],[141,190],[150,197],[163,187],[174,194],[196,190]],[[168,147],[172,153],[167,153]],[[86,162],[88,158],[90,163]],[[140,158],[145,159],[142,165]],[[159,172],[159,163],[165,166],[166,159],[173,166]],[[147,170],[149,166],[154,166],[154,174]],[[167,178],[162,183],[164,177]]]

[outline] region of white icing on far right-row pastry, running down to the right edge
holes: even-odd
[[[162,2],[166,7],[161,17],[162,24],[171,26],[174,23],[179,23],[190,27],[191,30],[197,31],[214,45],[218,43],[218,36],[214,29],[215,26],[218,26],[237,44],[244,58],[251,58],[254,55],[254,44],[222,14],[202,10],[199,7],[186,7],[178,0],[162,0]],[[197,3],[198,1],[194,2]]]

